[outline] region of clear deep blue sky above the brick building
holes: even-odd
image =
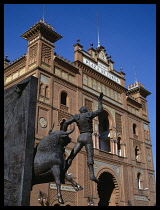
[[[4,55],[10,61],[27,51],[20,37],[43,18],[44,4],[4,5]],[[55,52],[73,61],[77,39],[83,49],[97,47],[97,11],[100,42],[115,62],[123,67],[126,88],[136,78],[152,94],[147,97],[154,169],[156,170],[156,5],[155,4],[46,4],[44,20],[63,38]]]

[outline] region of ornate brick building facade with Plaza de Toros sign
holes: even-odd
[[[52,124],[59,130],[63,122],[79,113],[81,106],[98,108],[97,96],[103,97],[103,114],[93,120],[94,171],[100,180],[90,181],[86,151],[83,148],[68,172],[84,189],[75,191],[62,185],[62,206],[153,206],[155,180],[146,97],[151,93],[139,82],[125,87],[125,73],[114,69],[114,62],[103,46],[91,46],[88,52],[77,42],[74,62],[56,55],[54,43],[62,38],[53,27],[40,20],[21,35],[28,41],[27,53],[17,60],[4,59],[4,84],[8,88],[33,75],[39,80],[35,123],[35,146],[48,134]],[[72,127],[72,125],[70,125]],[[70,135],[66,147],[70,154],[79,131]],[[57,202],[55,183],[35,185],[31,206]],[[47,202],[46,202],[47,201]]]

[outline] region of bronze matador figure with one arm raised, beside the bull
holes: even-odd
[[[73,115],[63,124],[63,130],[66,131],[68,125],[70,125],[73,122],[76,122],[80,132],[80,135],[77,139],[77,143],[75,144],[75,147],[72,149],[71,154],[66,160],[65,171],[68,170],[74,157],[78,154],[78,152],[82,149],[82,147],[85,146],[88,158],[87,164],[90,170],[90,179],[96,183],[99,183],[99,180],[95,177],[93,169],[94,150],[92,142],[92,133],[93,133],[92,124],[93,124],[93,118],[100,115],[103,111],[102,98],[103,98],[103,93],[100,93],[100,95],[98,96],[98,110],[92,112],[88,111],[87,107],[82,106],[79,110],[80,114]]]

